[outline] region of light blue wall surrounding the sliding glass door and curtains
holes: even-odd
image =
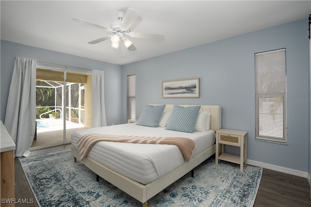
[[[121,123],[121,66],[4,40],[1,40],[1,121],[4,122],[15,57],[31,58],[86,69],[104,70],[107,123],[108,125]]]

